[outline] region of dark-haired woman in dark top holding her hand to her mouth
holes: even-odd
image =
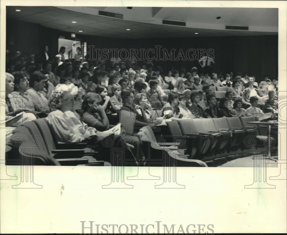
[[[119,123],[119,118],[116,115],[117,109],[115,108],[113,102],[110,102],[110,96],[108,96],[106,86],[98,85],[96,87],[96,93],[99,94],[102,98],[100,105],[104,108],[108,116],[109,123],[112,125]]]

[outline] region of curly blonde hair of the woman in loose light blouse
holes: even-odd
[[[59,109],[69,95],[76,96],[78,88],[73,84],[58,84],[55,87],[51,97],[49,98],[49,107],[52,109]]]

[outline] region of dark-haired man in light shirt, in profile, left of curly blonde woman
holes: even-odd
[[[51,112],[48,105],[48,100],[39,93],[46,86],[47,78],[39,71],[35,71],[31,74],[29,82],[30,88],[26,91],[32,97],[35,111],[37,112]]]

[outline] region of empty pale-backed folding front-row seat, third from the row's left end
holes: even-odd
[[[198,133],[210,134],[213,139],[211,152],[223,153],[230,142],[230,132],[217,130],[211,118],[193,119],[195,129]]]

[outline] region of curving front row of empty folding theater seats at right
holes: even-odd
[[[143,127],[145,137],[142,139],[149,151],[146,155],[151,158],[157,156],[158,147],[168,145],[166,148],[177,146],[189,159],[205,161],[218,156],[251,153],[252,147],[262,146],[268,138],[267,129],[248,124],[253,121],[253,117],[170,121],[166,126]],[[275,129],[271,133],[271,142],[276,145],[278,131]],[[256,143],[254,146],[249,144],[249,138]]]

